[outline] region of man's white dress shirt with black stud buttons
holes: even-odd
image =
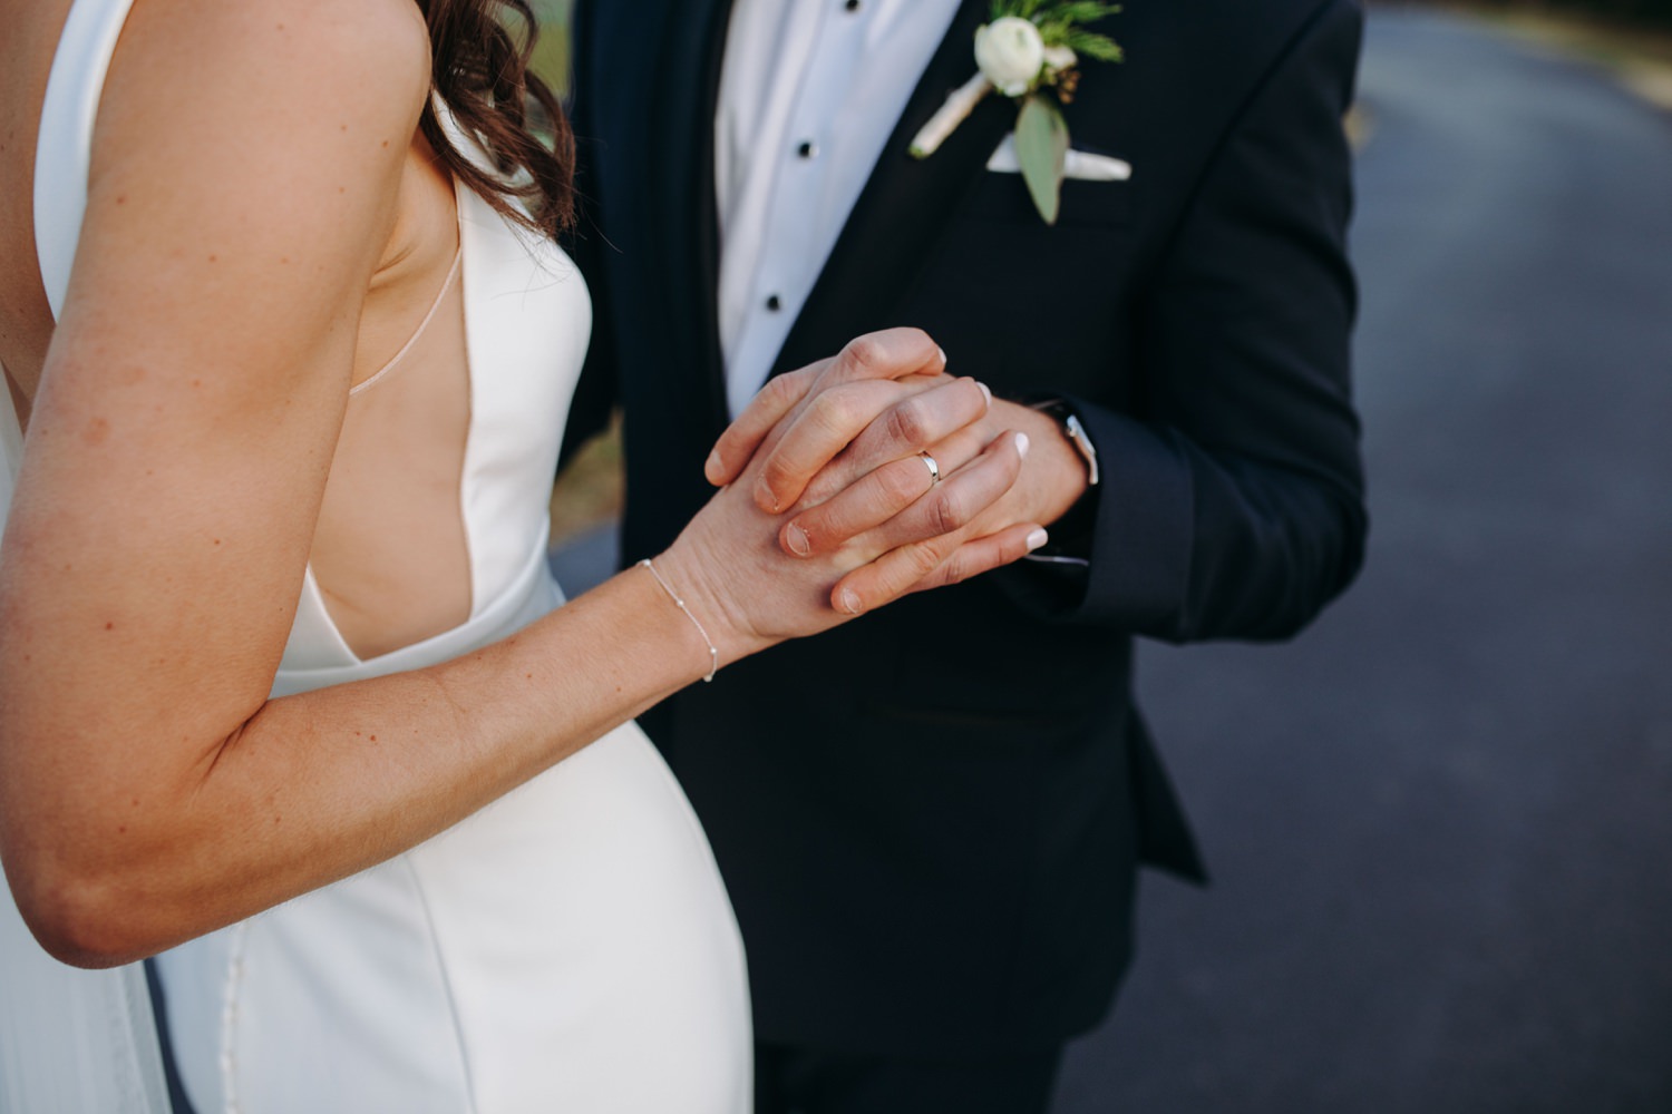
[[[719,324],[732,414],[766,382],[958,7],[958,0],[737,0],[732,7],[714,114]]]

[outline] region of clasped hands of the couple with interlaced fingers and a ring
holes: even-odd
[[[1053,419],[946,376],[916,329],[767,381],[706,474],[721,491],[657,565],[722,665],[1015,561],[1085,489]]]

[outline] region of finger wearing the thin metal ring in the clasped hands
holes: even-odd
[[[779,544],[794,556],[831,553],[851,538],[858,538],[905,511],[926,496],[938,478],[950,479],[985,448],[985,434],[973,426],[965,426],[926,449],[933,466],[923,454],[903,456],[873,468],[849,486],[823,499],[818,496],[819,484],[816,483],[808,488],[806,501],[811,506],[799,511],[779,529]]]

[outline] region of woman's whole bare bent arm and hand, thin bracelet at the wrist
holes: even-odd
[[[405,0],[145,0],[124,33],[0,551],[0,860],[69,962],[376,863],[707,671],[629,571],[466,658],[268,700],[426,95]],[[965,491],[1018,468],[1002,438]],[[839,578],[910,541],[796,561],[777,524],[736,484],[659,558],[726,660],[836,625]]]

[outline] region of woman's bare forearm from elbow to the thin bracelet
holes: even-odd
[[[423,842],[702,676],[707,658],[655,580],[629,570],[500,643],[268,701],[226,738],[122,740],[201,757],[167,773],[147,762],[144,780],[117,760],[92,785],[12,797],[7,875],[55,955],[130,962]]]

